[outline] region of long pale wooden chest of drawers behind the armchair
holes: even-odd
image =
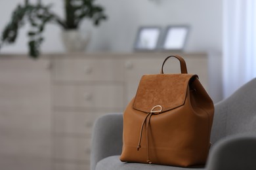
[[[0,143],[2,160],[22,162],[17,165],[20,170],[89,170],[96,118],[123,112],[135,96],[140,77],[160,73],[163,59],[169,55],[56,54],[41,56],[38,61],[26,56],[2,59],[0,126],[9,135],[15,132],[6,138],[0,131],[1,139],[5,138]],[[186,60],[188,72],[198,74],[207,90],[207,54],[179,55]],[[179,61],[167,61],[164,72],[180,73]],[[17,169],[11,161],[4,165],[0,169]]]

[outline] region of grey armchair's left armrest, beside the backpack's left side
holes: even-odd
[[[91,170],[108,156],[120,155],[123,145],[123,114],[106,114],[95,121],[91,143]]]

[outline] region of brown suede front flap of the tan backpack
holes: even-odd
[[[161,105],[161,112],[165,112],[183,105],[188,83],[194,76],[197,75],[143,75],[133,108],[148,113],[156,105]]]

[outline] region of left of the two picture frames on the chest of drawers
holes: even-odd
[[[135,51],[154,51],[158,49],[161,28],[158,26],[139,27],[135,40]]]

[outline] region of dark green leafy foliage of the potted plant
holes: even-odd
[[[12,12],[11,21],[3,30],[0,48],[3,47],[3,44],[14,43],[20,27],[25,22],[29,22],[29,54],[32,58],[37,58],[40,54],[40,46],[43,42],[42,33],[46,24],[54,23],[60,25],[63,29],[77,29],[85,18],[91,19],[95,25],[99,25],[102,20],[106,20],[103,7],[95,5],[95,0],[63,1],[66,13],[64,19],[51,11],[52,5],[43,5],[40,0],[37,1],[37,4],[25,0],[24,5],[18,5]]]

